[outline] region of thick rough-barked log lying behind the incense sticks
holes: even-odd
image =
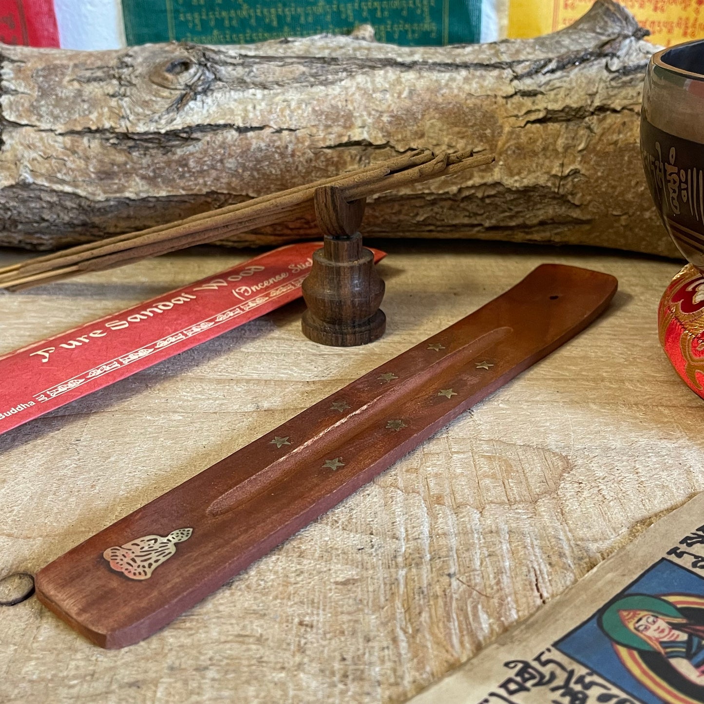
[[[370,199],[365,234],[676,256],[639,155],[644,34],[598,0],[544,37],[441,48],[0,45],[0,244],[101,239],[429,147],[497,159]],[[236,244],[319,236],[311,217]]]

